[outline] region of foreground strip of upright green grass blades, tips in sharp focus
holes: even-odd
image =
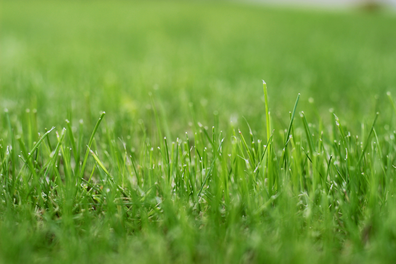
[[[171,142],[142,124],[139,150],[102,123],[104,112],[90,138],[66,120],[28,143],[6,110],[2,262],[394,259],[396,132],[378,135],[377,113],[359,136],[335,114],[324,133],[295,115],[298,95],[279,146],[264,91],[267,138],[198,122]]]

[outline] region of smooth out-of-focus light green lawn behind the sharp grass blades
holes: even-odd
[[[14,121],[37,109],[40,131],[101,110],[120,129],[153,122],[150,92],[172,137],[192,122],[190,102],[204,125],[218,111],[222,127],[244,116],[259,131],[261,79],[275,125],[301,93],[299,111],[313,118],[311,97],[325,120],[334,108],[359,127],[396,86],[396,16],[384,9],[2,1],[0,19],[0,107]]]

